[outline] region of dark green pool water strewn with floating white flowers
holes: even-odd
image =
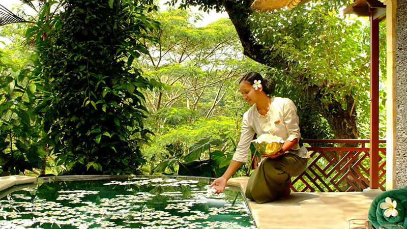
[[[0,199],[0,228],[256,228],[241,192],[209,179],[64,181]]]

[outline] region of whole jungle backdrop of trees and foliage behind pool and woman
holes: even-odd
[[[22,0],[36,13],[16,6],[24,22],[0,27],[12,41],[0,50],[0,173],[219,177],[250,71],[296,103],[302,138],[369,138],[369,22],[341,14],[352,1],[273,12],[252,2]],[[198,26],[210,11],[229,18]]]

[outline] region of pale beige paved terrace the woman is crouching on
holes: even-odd
[[[244,193],[248,177],[232,178],[228,185]],[[382,191],[292,192],[287,200],[257,204],[246,199],[258,229],[348,228],[347,220],[367,219],[370,204]]]

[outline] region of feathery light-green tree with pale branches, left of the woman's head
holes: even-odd
[[[260,67],[242,55],[230,20],[197,27],[192,21],[200,20],[199,14],[174,8],[151,16],[160,22],[160,30],[151,34],[158,37],[158,45],[143,41],[150,52],[135,61],[146,75],[166,85],[144,92],[159,124],[151,128],[224,115],[227,106],[236,106],[225,102],[237,89],[235,81],[247,69]]]

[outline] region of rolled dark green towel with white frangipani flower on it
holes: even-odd
[[[407,228],[407,187],[385,191],[370,205],[369,220],[375,228],[383,224],[397,224]]]

